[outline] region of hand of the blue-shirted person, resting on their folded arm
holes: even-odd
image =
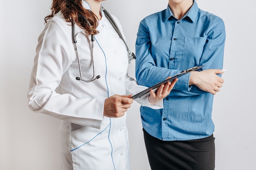
[[[203,91],[216,95],[224,83],[224,79],[219,77],[217,74],[222,74],[224,72],[225,70],[221,69],[193,71],[189,78],[189,85],[195,84]]]

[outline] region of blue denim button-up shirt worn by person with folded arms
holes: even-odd
[[[221,18],[202,11],[196,2],[181,20],[169,6],[144,18],[136,41],[136,79],[153,86],[182,70],[203,65],[222,69],[225,25]],[[164,108],[141,107],[143,128],[164,141],[200,139],[214,131],[211,119],[213,95],[195,85],[189,74],[179,81],[164,99]]]

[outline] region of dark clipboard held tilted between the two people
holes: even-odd
[[[171,77],[171,78],[169,78],[169,79],[166,79],[166,80],[164,80],[164,81],[162,81],[162,82],[159,82],[159,83],[157,83],[157,84],[155,84],[155,85],[153,85],[153,86],[147,88],[146,90],[141,91],[141,92],[137,93],[136,95],[133,95],[133,96],[130,97],[130,98],[131,98],[131,99],[137,99],[137,98],[139,98],[139,97],[145,95],[146,93],[148,93],[150,90],[154,90],[155,88],[158,88],[158,87],[161,86],[162,84],[166,84],[167,82],[171,82],[171,81],[173,81],[174,79],[176,79],[176,78],[178,78],[178,77],[180,77],[180,76],[182,76],[182,75],[185,75],[185,74],[187,74],[187,73],[189,73],[189,72],[191,72],[191,71],[198,70],[198,69],[200,69],[200,68],[202,68],[202,67],[203,67],[203,66],[195,66],[195,67],[192,67],[192,68],[188,68],[188,69],[186,69],[186,70],[183,70],[183,71],[180,72],[179,74],[177,74],[177,75],[175,75],[175,76],[173,76],[173,77]]]

